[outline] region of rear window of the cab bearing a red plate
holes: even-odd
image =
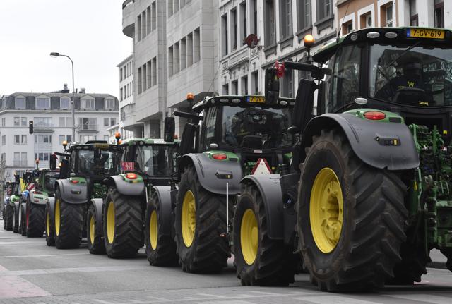
[[[171,176],[176,158],[177,147],[173,145],[143,145],[136,154],[139,170],[148,176]]]

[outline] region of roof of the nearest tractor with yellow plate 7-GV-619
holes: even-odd
[[[334,42],[324,45],[316,51],[312,59],[316,62],[326,62],[342,44],[358,44],[374,42],[388,45],[412,45],[420,47],[452,47],[452,31],[444,28],[364,28],[350,32]]]

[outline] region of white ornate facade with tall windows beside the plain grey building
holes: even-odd
[[[220,94],[263,94],[265,69],[275,61],[305,61],[304,36],[316,40],[312,51],[335,38],[333,0],[220,0]],[[245,38],[257,35],[257,47]],[[295,97],[303,73],[288,71],[280,94]]]

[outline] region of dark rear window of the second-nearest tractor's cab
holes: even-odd
[[[271,149],[292,145],[290,109],[222,107],[222,141],[235,147]]]

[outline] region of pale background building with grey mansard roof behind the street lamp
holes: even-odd
[[[53,93],[18,92],[0,99],[0,158],[6,161],[6,175],[22,173],[35,167],[49,166],[49,154],[63,152],[62,142],[71,142],[72,118],[69,90]],[[91,94],[81,90],[75,96],[76,138],[109,140],[107,128],[118,122],[118,99],[108,94]],[[29,134],[28,123],[34,122]],[[8,180],[9,180],[8,179]]]

